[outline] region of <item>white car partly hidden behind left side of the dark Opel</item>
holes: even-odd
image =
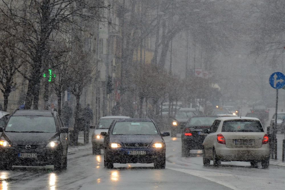
[[[115,119],[125,118],[128,119],[130,117],[127,116],[105,116],[101,117],[93,134],[92,134],[92,153],[96,155],[101,154],[101,149],[103,148],[104,137],[101,136],[101,132],[108,132],[111,123]]]

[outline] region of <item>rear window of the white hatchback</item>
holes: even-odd
[[[256,120],[224,121],[222,132],[264,132],[262,125]]]

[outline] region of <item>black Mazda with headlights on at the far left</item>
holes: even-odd
[[[66,169],[68,128],[57,112],[16,110],[0,127],[0,167],[54,165]]]

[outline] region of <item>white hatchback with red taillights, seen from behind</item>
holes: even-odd
[[[261,161],[263,168],[269,165],[268,136],[260,121],[250,117],[217,118],[203,142],[203,164],[214,166],[221,161],[250,161],[257,167]]]

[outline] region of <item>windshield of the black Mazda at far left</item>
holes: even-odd
[[[12,116],[7,123],[5,131],[55,133],[56,125],[54,117]]]

